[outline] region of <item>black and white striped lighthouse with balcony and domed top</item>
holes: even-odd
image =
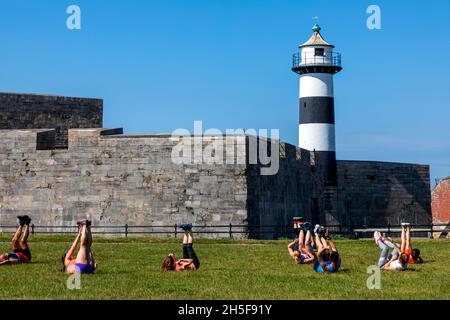
[[[326,42],[316,23],[313,34],[294,55],[300,75],[299,147],[314,152],[325,182],[336,184],[333,76],[342,70],[341,55]]]

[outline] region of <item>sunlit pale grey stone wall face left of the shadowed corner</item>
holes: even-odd
[[[245,164],[174,164],[169,136],[111,133],[72,129],[67,150],[36,150],[36,130],[0,131],[0,225],[19,214],[39,226],[246,223]]]

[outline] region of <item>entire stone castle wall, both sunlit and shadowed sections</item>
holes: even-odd
[[[99,128],[102,105],[0,94],[0,129],[21,129],[0,130],[0,226],[24,214],[38,226],[61,228],[88,216],[97,226],[159,232],[181,222],[205,232],[222,225],[223,234],[211,235],[219,237],[229,236],[231,223],[243,226],[235,236],[273,239],[292,235],[294,216],[354,227],[431,223],[426,165],[338,161],[337,186],[327,186],[320,154],[282,142],[277,174],[261,175],[265,166],[249,157],[264,138],[245,135],[201,138],[202,150],[223,144],[224,161],[205,164],[201,153],[190,152],[192,161],[177,164],[172,153],[180,145],[169,135]],[[199,140],[189,139],[192,151]]]

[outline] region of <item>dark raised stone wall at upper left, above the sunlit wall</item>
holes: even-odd
[[[0,93],[0,129],[55,129],[56,148],[67,148],[68,129],[102,125],[103,100]]]

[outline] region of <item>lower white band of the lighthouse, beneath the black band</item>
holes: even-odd
[[[299,147],[309,151],[336,151],[334,124],[300,124]]]

